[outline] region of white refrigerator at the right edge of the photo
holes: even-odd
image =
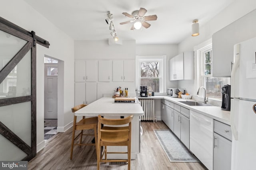
[[[234,45],[231,98],[231,169],[256,169],[256,37]]]

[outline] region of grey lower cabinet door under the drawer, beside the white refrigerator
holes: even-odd
[[[231,148],[231,141],[214,133],[214,170],[231,170]]]

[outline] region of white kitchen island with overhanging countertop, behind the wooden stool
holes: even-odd
[[[140,145],[140,121],[139,116],[143,115],[142,107],[140,103],[114,103],[114,98],[103,97],[91,104],[87,105],[76,111],[76,116],[98,116],[102,115],[105,118],[120,119],[120,116],[133,115],[132,119],[132,148],[131,158],[136,159],[136,155],[139,152]],[[124,152],[127,147],[108,147],[109,152]],[[110,159],[124,159],[127,156],[125,154],[109,154]]]

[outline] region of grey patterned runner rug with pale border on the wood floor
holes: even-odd
[[[170,162],[199,162],[170,129],[154,129],[154,133]]]

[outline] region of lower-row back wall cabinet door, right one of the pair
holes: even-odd
[[[86,82],[86,102],[90,104],[97,100],[97,84],[96,82]]]

